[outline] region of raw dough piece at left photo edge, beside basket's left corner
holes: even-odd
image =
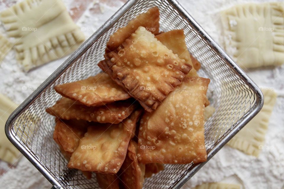
[[[16,105],[9,98],[0,93],[0,159],[10,164],[17,162],[21,153],[7,139],[4,130],[8,117],[17,107],[18,105]]]

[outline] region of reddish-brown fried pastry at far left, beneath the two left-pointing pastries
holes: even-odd
[[[78,147],[85,132],[87,132],[87,127],[84,121],[57,119],[53,139],[64,151],[72,153]]]

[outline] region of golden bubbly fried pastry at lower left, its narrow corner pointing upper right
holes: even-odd
[[[95,124],[88,127],[68,163],[69,168],[101,173],[117,173],[125,159],[128,143],[134,136],[141,110],[119,124]]]

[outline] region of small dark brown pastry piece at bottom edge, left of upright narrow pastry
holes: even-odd
[[[101,189],[119,189],[119,178],[116,174],[96,173]]]

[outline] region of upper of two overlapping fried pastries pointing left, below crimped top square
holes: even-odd
[[[105,73],[99,73],[88,79],[65,83],[54,87],[56,92],[87,106],[102,106],[106,103],[130,98],[120,86],[118,86]]]

